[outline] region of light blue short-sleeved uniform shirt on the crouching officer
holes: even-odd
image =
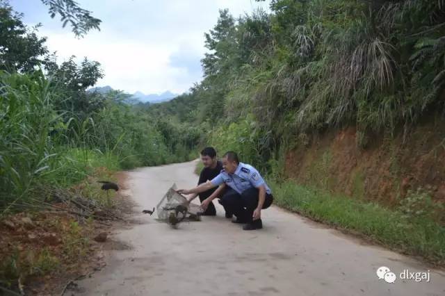
[[[267,186],[257,169],[252,167],[252,165],[245,163],[239,163],[236,171],[233,174],[229,174],[225,170],[222,170],[218,176],[211,180],[211,183],[215,186],[226,183],[227,186],[239,194],[249,188],[259,188],[259,186],[264,185],[264,187],[266,187],[266,193],[269,195],[272,194],[272,191]]]

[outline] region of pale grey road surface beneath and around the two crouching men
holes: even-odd
[[[172,183],[191,188],[195,162],[129,172],[136,212],[153,208]],[[179,229],[139,215],[140,224],[112,236],[130,246],[111,251],[106,267],[65,295],[445,295],[445,273],[367,245],[276,206],[262,211],[264,229],[243,231],[218,216]],[[375,271],[387,266],[397,279]],[[399,279],[427,272],[430,282]]]

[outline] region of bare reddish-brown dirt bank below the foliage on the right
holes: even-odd
[[[355,127],[300,135],[286,155],[286,175],[300,184],[397,206],[410,190],[445,202],[445,122],[432,118],[391,135]],[[445,221],[444,221],[445,222]]]

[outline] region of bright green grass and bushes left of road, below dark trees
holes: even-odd
[[[106,101],[86,119],[56,110],[63,97],[42,72],[0,72],[0,215],[38,199],[42,184],[72,186],[108,170],[161,165],[193,158],[190,145],[166,138],[154,119]],[[43,197],[42,197],[43,198]]]

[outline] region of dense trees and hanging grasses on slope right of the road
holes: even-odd
[[[156,108],[264,168],[332,127],[357,126],[366,147],[371,133],[442,115],[445,1],[273,0],[270,10],[222,10],[205,35],[204,80]]]

